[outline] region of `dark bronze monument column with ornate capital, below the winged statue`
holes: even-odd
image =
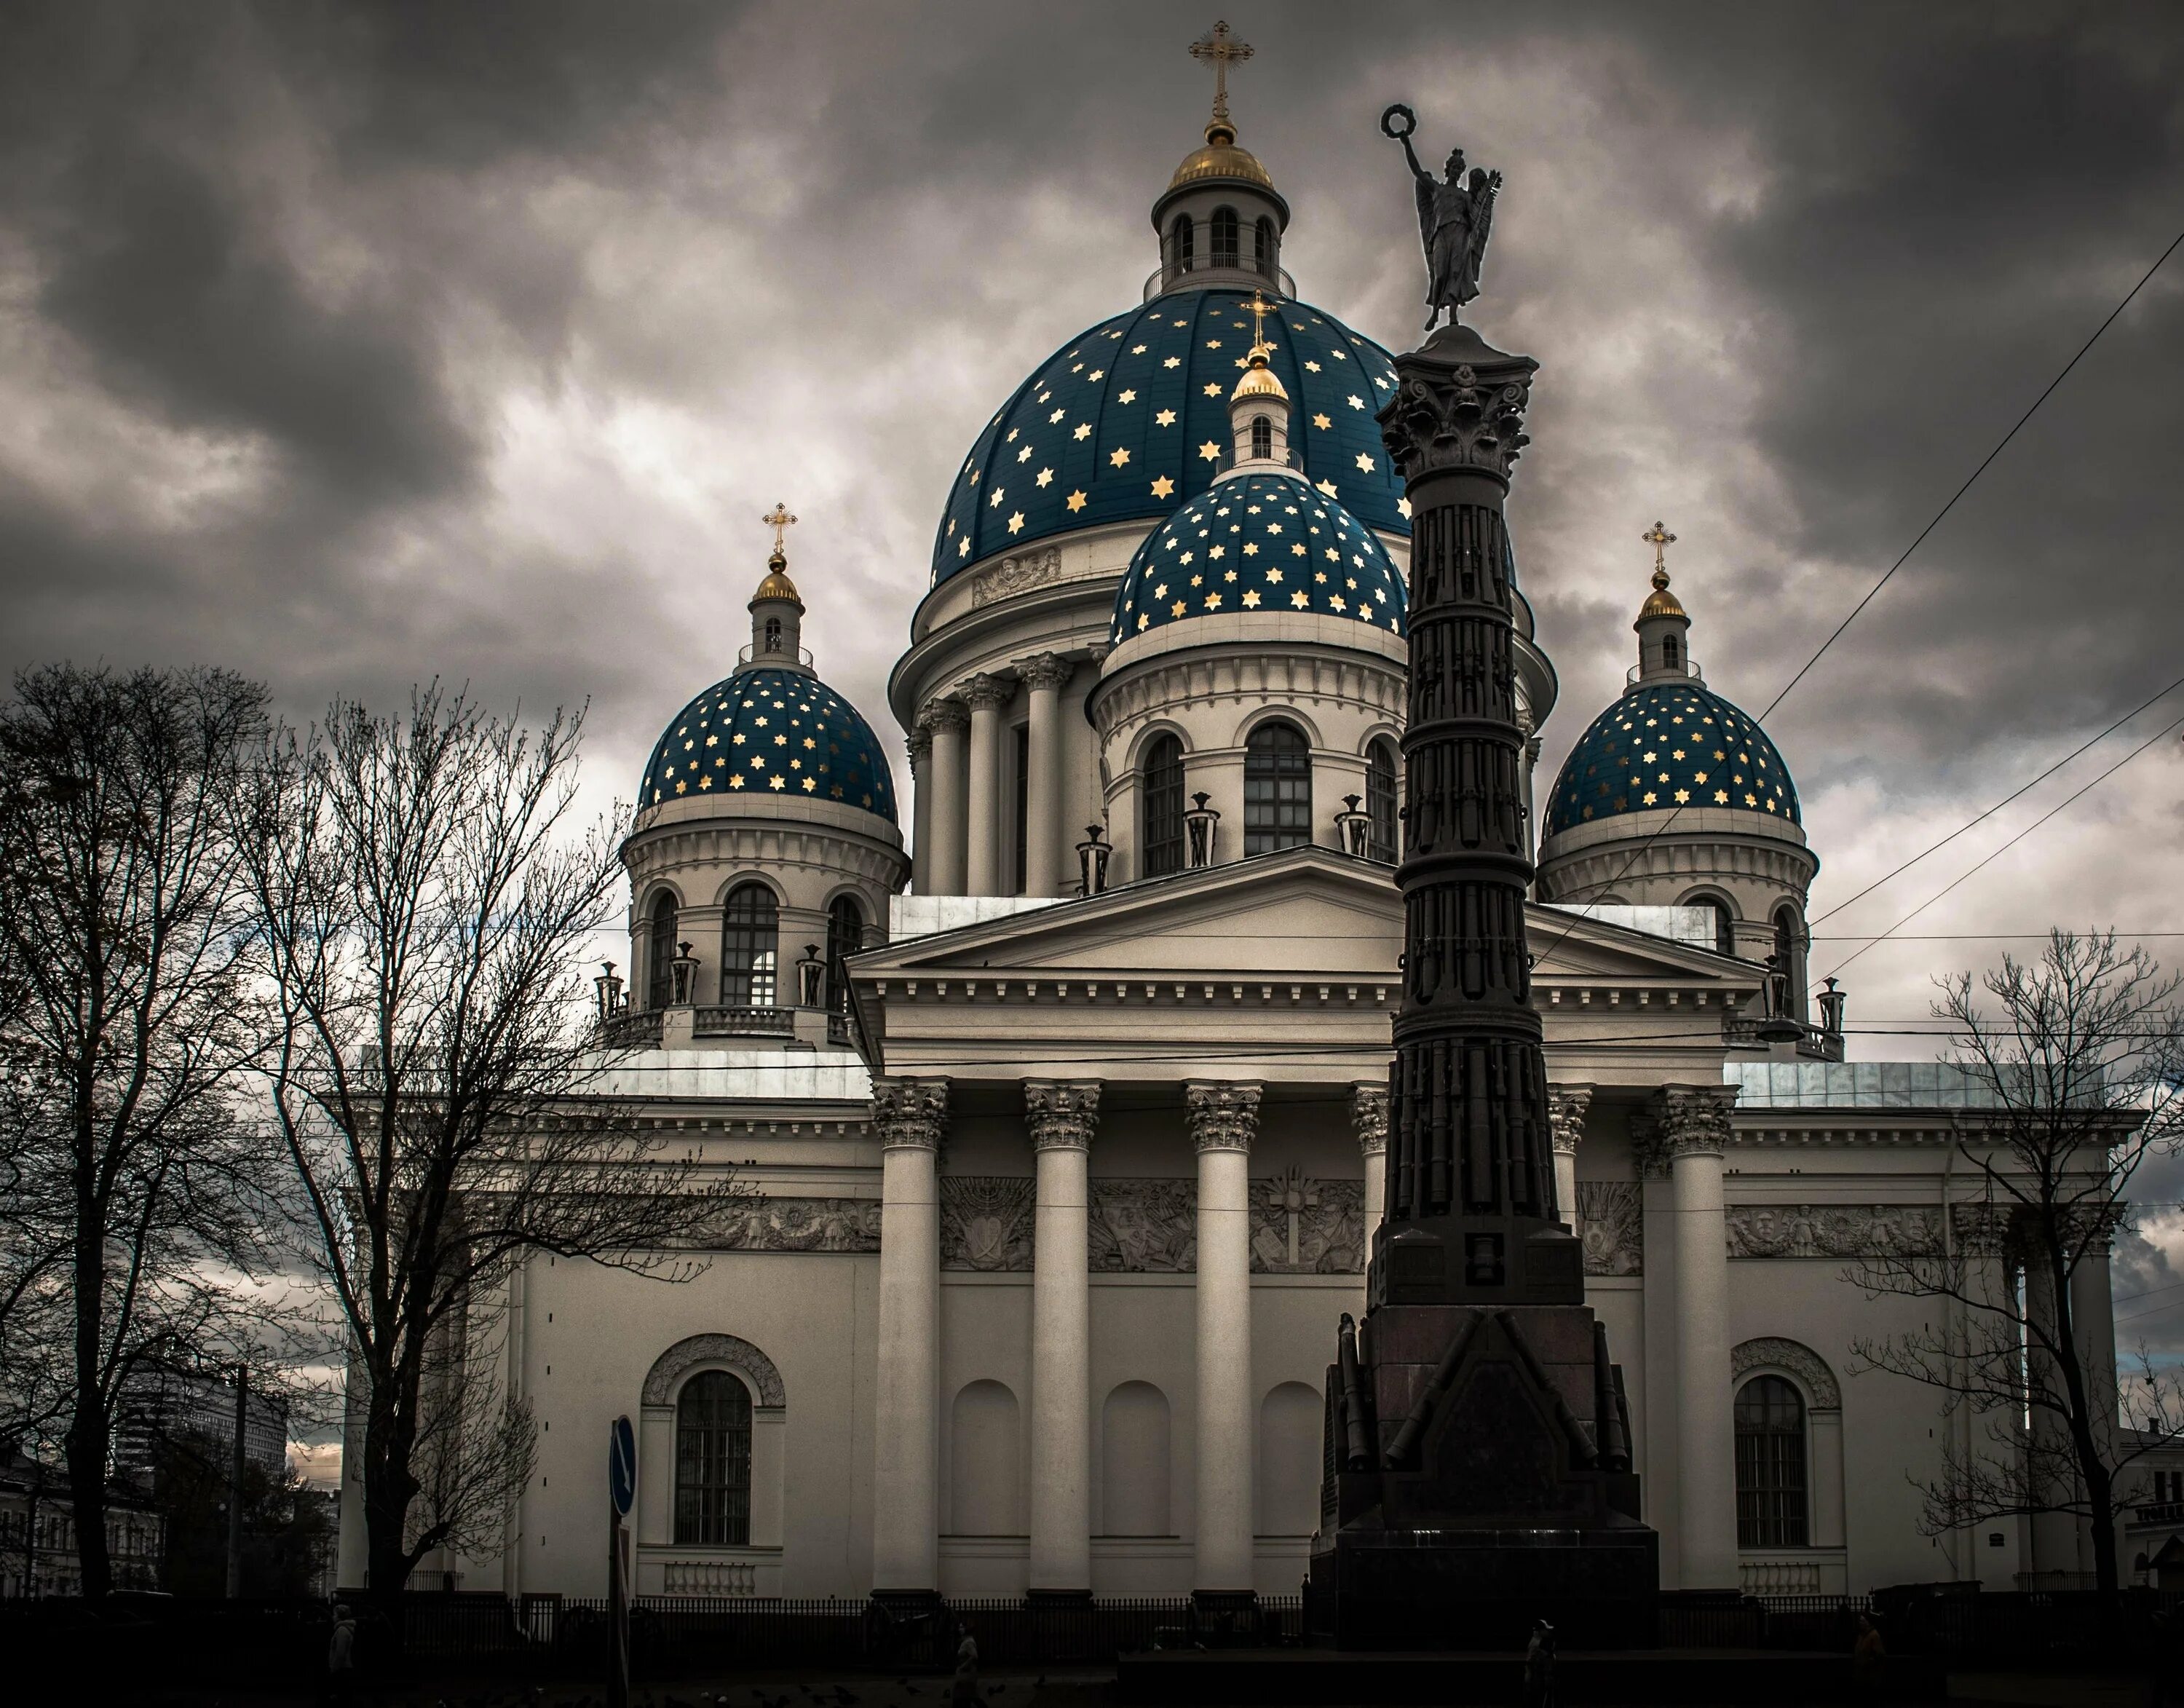
[[[1411,500],[1404,987],[1389,1079],[1387,1214],[1367,1302],[1581,1304],[1555,1203],[1531,1007],[1524,732],[1503,505],[1531,356],[1448,325],[1396,358],[1380,411]]]

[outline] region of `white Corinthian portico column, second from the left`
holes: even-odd
[[[1099,1081],[1024,1086],[1035,1155],[1031,1245],[1033,1594],[1092,1594],[1092,1310],[1088,1155]]]

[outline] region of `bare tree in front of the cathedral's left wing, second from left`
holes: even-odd
[[[435,686],[406,719],[336,705],[271,767],[266,1077],[349,1339],[380,1601],[496,1531],[531,1472],[531,1418],[476,1352],[511,1269],[550,1252],[681,1278],[668,1252],[716,1212],[603,1099],[577,957],[620,865],[607,823],[572,823],[579,734]]]

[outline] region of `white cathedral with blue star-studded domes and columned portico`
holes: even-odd
[[[603,1594],[625,1413],[640,1594],[1297,1588],[1400,1000],[1393,369],[1299,295],[1289,203],[1225,118],[1151,225],[1144,299],[976,432],[885,712],[817,675],[778,533],[749,649],[668,719],[609,1090],[749,1195],[684,1284],[513,1280],[537,1472],[498,1557],[441,1562],[465,1588]],[[1662,1584],[2075,1573],[2068,1520],[1918,1529],[1907,1474],[1979,1424],[1854,1374],[1854,1337],[1928,1306],[1845,1267],[1963,1236],[1977,1094],[1843,1061],[1841,998],[1808,1011],[1819,852],[1658,564],[1627,690],[1533,784],[1529,937]],[[1551,636],[1518,627],[1540,730]],[[2105,1267],[2079,1282],[2110,1324]]]

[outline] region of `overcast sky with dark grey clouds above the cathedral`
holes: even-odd
[[[1511,518],[1562,673],[1551,769],[1631,662],[1655,515],[1710,684],[1765,710],[2184,225],[2171,4],[1230,20],[1284,260],[1361,332],[1422,323],[1380,109],[1507,179],[1470,319],[1542,363]],[[301,716],[432,675],[587,699],[605,804],[734,664],[784,498],[806,640],[895,745],[948,476],[1136,301],[1210,22],[17,0],[0,664],[232,664]],[[1815,915],[2184,675],[2180,371],[2184,256],[1769,719]],[[2175,716],[2184,690],[1821,920],[1815,972]],[[1933,935],[2184,933],[2180,784],[2171,734],[1863,954],[1854,1024],[1922,1020],[1933,974],[2001,948]],[[2134,1245],[2118,1293],[2184,1278],[2184,1214],[2149,1232],[2167,1256]],[[2164,1304],[2123,1339],[2184,1343],[2184,1289],[2118,1315]]]

